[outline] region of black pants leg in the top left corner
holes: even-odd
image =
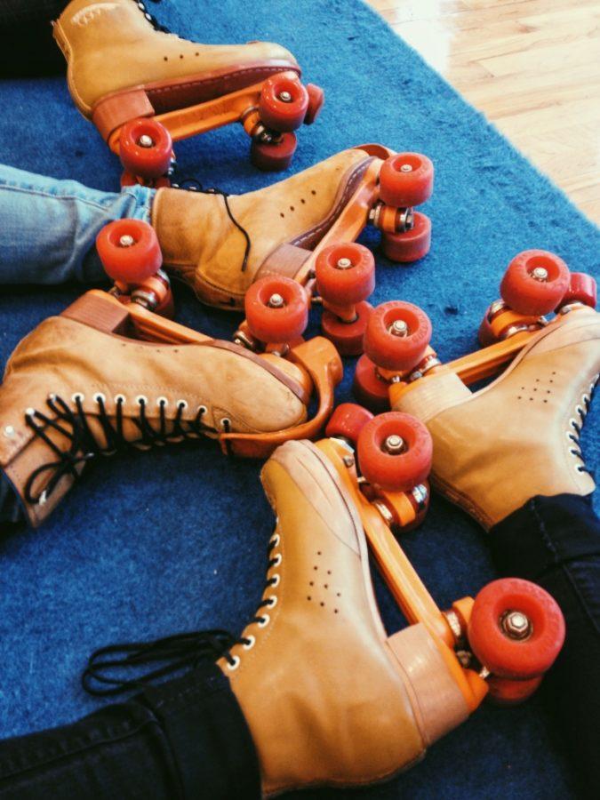
[[[0,77],[65,72],[51,22],[66,5],[67,0],[0,0]]]

